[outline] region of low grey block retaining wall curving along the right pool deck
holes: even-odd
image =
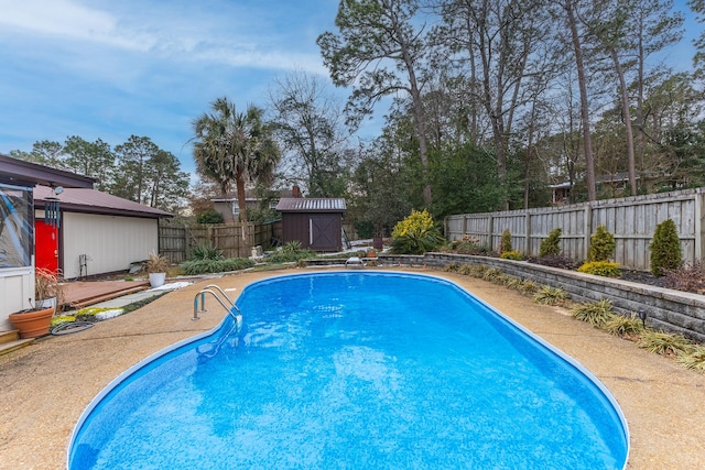
[[[379,263],[381,265],[426,265],[437,269],[443,269],[451,263],[497,267],[514,277],[561,287],[574,302],[587,303],[608,298],[615,310],[620,314],[644,310],[647,324],[652,328],[677,332],[698,342],[705,342],[705,296],[698,294],[500,258],[451,253],[381,254]]]

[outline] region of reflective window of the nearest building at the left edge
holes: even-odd
[[[32,265],[32,188],[0,184],[0,269]]]

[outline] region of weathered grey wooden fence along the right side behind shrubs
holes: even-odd
[[[657,225],[675,222],[683,249],[683,261],[701,261],[705,253],[703,205],[705,188],[652,194],[620,199],[596,200],[562,207],[464,214],[445,219],[448,240],[470,239],[492,250],[499,248],[501,233],[511,232],[512,249],[538,256],[541,242],[560,228],[563,254],[585,260],[590,236],[605,226],[615,236],[615,261],[627,269],[650,269],[649,244]]]

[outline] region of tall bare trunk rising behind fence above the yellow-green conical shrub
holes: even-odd
[[[593,139],[590,134],[589,103],[587,99],[587,79],[585,77],[585,65],[583,64],[583,47],[581,36],[577,31],[577,19],[575,18],[574,0],[566,0],[563,6],[567,13],[568,28],[575,54],[575,65],[577,68],[578,89],[581,91],[581,119],[583,121],[583,146],[585,150],[585,182],[587,184],[587,200],[597,199],[595,188],[595,156],[593,155]]]

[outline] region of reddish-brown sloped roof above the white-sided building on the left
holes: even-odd
[[[112,216],[130,216],[156,219],[160,217],[174,217],[173,214],[153,207],[143,206],[132,200],[122,199],[97,189],[64,188],[58,196],[52,188],[36,186],[34,188],[34,206],[44,208],[51,198],[58,199],[63,210],[70,212],[101,214]]]

